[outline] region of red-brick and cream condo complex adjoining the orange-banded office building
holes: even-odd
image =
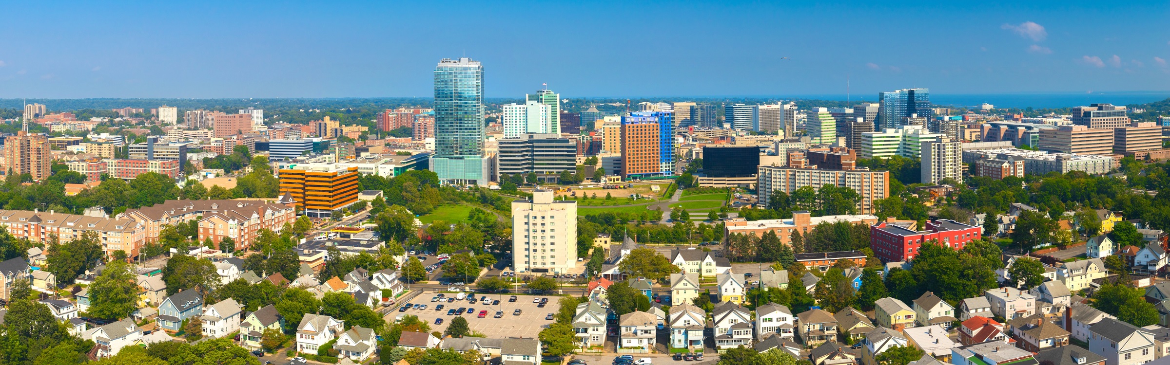
[[[158,241],[164,226],[173,226],[195,219],[199,221],[199,240],[212,237],[219,243],[230,236],[240,247],[252,245],[252,237],[260,229],[281,232],[284,223],[296,220],[292,205],[264,200],[167,200],[149,207],[126,209],[117,215],[140,223],[146,242]],[[215,223],[222,226],[214,226]],[[245,240],[247,239],[247,240]]]

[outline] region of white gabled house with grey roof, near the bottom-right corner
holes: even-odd
[[[1133,324],[1104,318],[1089,326],[1089,351],[1106,365],[1145,364],[1155,359],[1154,333]]]

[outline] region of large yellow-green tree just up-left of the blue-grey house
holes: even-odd
[[[129,317],[138,307],[138,284],[124,261],[111,261],[89,288],[89,315],[103,319]]]

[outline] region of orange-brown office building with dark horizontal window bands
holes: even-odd
[[[331,216],[358,201],[357,167],[304,167],[278,170],[281,193],[288,193],[305,215]]]

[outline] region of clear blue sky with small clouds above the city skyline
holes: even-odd
[[[1166,1],[634,2],[9,1],[0,97],[429,97],[464,53],[488,97],[1170,90]]]

